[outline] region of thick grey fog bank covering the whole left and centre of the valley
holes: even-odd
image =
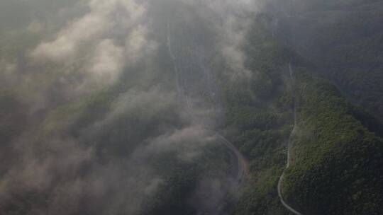
[[[158,198],[177,186],[195,213],[223,204],[235,158],[216,139],[216,79],[251,75],[243,46],[262,2],[18,0],[0,8],[0,122],[11,127],[1,131],[0,213],[145,214],[170,204]],[[18,19],[7,19],[11,11]],[[212,147],[222,151],[209,161]],[[195,181],[179,185],[176,170]]]

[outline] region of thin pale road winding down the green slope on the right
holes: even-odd
[[[292,79],[292,81],[294,81],[291,63],[289,64],[289,73],[290,73],[290,79]],[[295,90],[293,90],[293,92],[294,92],[294,95],[293,95],[293,99],[294,99],[294,128],[292,129],[292,133],[290,134],[289,142],[287,144],[287,165],[286,165],[286,168],[284,168],[284,171],[283,171],[281,177],[279,178],[279,182],[278,182],[278,196],[279,196],[279,199],[280,199],[282,205],[287,210],[291,211],[293,214],[296,214],[296,215],[303,215],[303,214],[299,213],[299,211],[296,211],[296,209],[293,209],[291,206],[289,206],[289,204],[287,204],[287,202],[284,201],[283,196],[282,196],[282,182],[284,179],[285,171],[287,170],[287,168],[290,167],[290,161],[291,161],[291,153],[290,152],[291,152],[291,147],[292,147],[292,136],[295,134],[295,130],[296,130],[296,96],[295,96]]]

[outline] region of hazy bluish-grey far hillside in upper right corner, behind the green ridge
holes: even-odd
[[[292,48],[382,120],[382,1],[292,1],[281,10],[278,27]]]

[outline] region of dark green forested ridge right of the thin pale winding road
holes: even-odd
[[[300,122],[285,196],[306,213],[380,214],[383,140],[362,124],[376,121],[304,69],[296,76]]]

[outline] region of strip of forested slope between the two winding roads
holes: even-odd
[[[294,122],[286,66],[293,55],[272,38],[271,21],[270,16],[258,16],[244,47],[252,78],[224,81],[226,127],[250,162],[248,185],[235,209],[238,215],[289,214],[279,203],[277,183]]]

